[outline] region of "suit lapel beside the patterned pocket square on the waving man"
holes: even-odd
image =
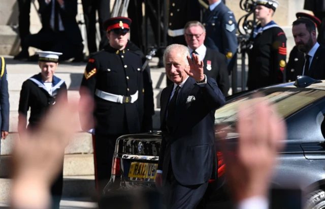
[[[191,77],[189,77],[186,82],[184,83],[184,86],[181,88],[181,91],[178,93],[177,101],[176,101],[176,113],[175,113],[175,123],[174,125],[177,126],[184,110],[185,110],[185,104],[186,104],[186,98],[189,96],[189,94],[192,91],[192,88],[194,85],[195,80]],[[177,127],[175,127],[174,131]]]

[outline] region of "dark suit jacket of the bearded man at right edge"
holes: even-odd
[[[318,80],[325,79],[325,59],[323,58],[324,54],[325,47],[320,45],[311,61],[309,73],[307,74],[307,76]]]

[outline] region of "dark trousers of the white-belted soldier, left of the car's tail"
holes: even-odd
[[[103,194],[103,190],[111,178],[115,142],[119,136],[99,134],[95,130],[95,135],[92,137],[95,183],[100,196]]]

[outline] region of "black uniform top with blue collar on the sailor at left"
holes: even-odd
[[[46,90],[41,73],[34,75],[23,82],[20,91],[18,113],[19,115],[27,117],[27,111],[30,107],[28,127],[31,126],[31,128],[33,128],[38,125],[46,111],[52,105],[55,105],[55,99],[58,95],[68,100],[66,83],[56,76],[53,76],[52,83],[52,94],[50,95]],[[19,123],[23,123],[24,127],[26,127],[26,121],[19,121]]]

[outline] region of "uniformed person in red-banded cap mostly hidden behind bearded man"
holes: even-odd
[[[313,21],[316,25],[316,28],[319,28],[321,25],[321,21],[310,14],[298,12],[296,14],[297,18],[306,17]],[[319,37],[319,34],[318,34]],[[318,39],[317,39],[318,40]],[[287,82],[295,81],[297,76],[302,75],[303,68],[305,65],[305,54],[298,50],[297,46],[294,46],[293,50],[291,50],[289,55],[289,61],[286,66],[286,76],[285,79]]]

